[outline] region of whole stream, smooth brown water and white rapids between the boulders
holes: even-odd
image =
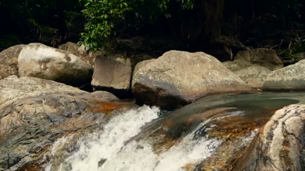
[[[45,170],[213,170],[236,168],[275,110],[303,92],[213,95],[175,111],[141,106],[93,131],[58,139]],[[240,154],[240,155],[237,155]]]

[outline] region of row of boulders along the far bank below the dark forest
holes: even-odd
[[[33,76],[71,85],[91,84],[95,90],[119,98],[134,95],[138,104],[174,109],[199,97],[224,92],[302,90],[303,60],[283,67],[276,52],[268,48],[239,51],[233,61],[222,64],[204,52],[171,50],[161,57],[87,52],[68,42],[59,49],[41,43],[10,47],[0,53],[0,78]],[[90,83],[91,81],[91,83]]]

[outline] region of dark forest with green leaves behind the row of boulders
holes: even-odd
[[[283,57],[305,51],[303,0],[0,0],[0,17],[0,51],[67,41],[98,50],[119,39],[144,46],[132,50],[205,51],[222,60],[252,47]]]

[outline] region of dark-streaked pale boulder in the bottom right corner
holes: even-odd
[[[304,170],[305,104],[277,110],[264,126],[245,170]]]

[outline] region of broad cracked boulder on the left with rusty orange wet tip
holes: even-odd
[[[0,170],[27,170],[33,164],[44,164],[39,162],[58,138],[100,126],[110,111],[123,107],[36,77],[0,80],[0,100]]]

